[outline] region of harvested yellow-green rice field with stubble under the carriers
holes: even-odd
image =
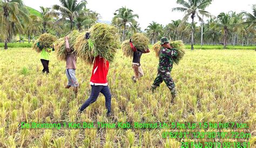
[[[50,74],[42,74],[40,54],[31,48],[0,50],[1,147],[180,147],[180,139],[163,138],[162,130],[21,130],[21,122],[247,122],[255,147],[256,52],[254,50],[186,50],[172,77],[178,96],[164,83],[148,90],[157,75],[158,59],[142,55],[144,77],[133,83],[131,59],[119,50],[108,74],[113,118],[105,115],[102,94],[82,115],[76,112],[89,97],[92,67],[77,62],[80,87],[75,98],[65,62],[53,52]],[[186,140],[186,139],[185,139]],[[191,141],[198,139],[190,139]],[[218,139],[215,139],[218,140]],[[234,141],[235,139],[232,139]],[[231,141],[231,140],[230,140]]]

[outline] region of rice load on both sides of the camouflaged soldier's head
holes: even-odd
[[[185,46],[182,40],[177,40],[177,41],[170,41],[170,45],[175,48],[178,52],[177,57],[173,58],[173,62],[175,64],[179,64],[179,61],[183,58],[184,54],[185,54]],[[154,50],[154,52],[156,52],[156,57],[159,57],[160,55],[160,51],[163,47],[161,47],[160,45],[160,41],[158,41],[156,44],[153,45],[152,49]]]

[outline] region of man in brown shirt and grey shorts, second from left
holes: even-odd
[[[66,89],[69,89],[71,86],[74,87],[74,92],[75,95],[77,96],[78,92],[78,81],[76,78],[76,61],[77,61],[77,56],[73,52],[73,49],[70,47],[69,44],[69,37],[65,37],[65,47],[66,47],[66,76],[68,77],[68,84],[65,87]]]

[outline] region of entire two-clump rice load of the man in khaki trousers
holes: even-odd
[[[141,51],[146,51],[149,48],[149,38],[145,36],[143,33],[134,33],[131,37],[132,44],[135,48]],[[133,51],[130,47],[130,40],[125,40],[122,43],[122,50],[126,57],[133,57]]]

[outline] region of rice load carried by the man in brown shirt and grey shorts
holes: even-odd
[[[79,32],[77,30],[72,31],[68,34],[69,37],[69,45],[73,52],[76,52],[75,43],[76,39],[79,36]],[[55,42],[55,50],[57,53],[58,60],[66,60],[66,46],[65,46],[65,37],[60,38]]]

